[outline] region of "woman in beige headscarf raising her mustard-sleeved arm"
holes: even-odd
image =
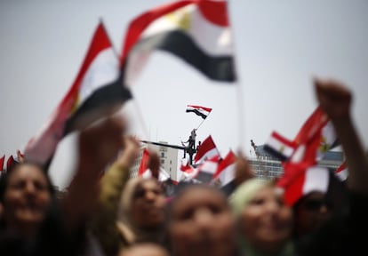
[[[130,168],[139,154],[139,141],[126,137],[124,151],[100,182],[99,207],[92,220],[91,231],[107,256],[116,256],[131,244],[160,244],[164,239],[161,236],[164,233],[163,188],[153,178],[130,178]],[[151,154],[150,157],[158,156]],[[150,160],[148,166],[155,165],[157,161],[159,164],[159,160]]]

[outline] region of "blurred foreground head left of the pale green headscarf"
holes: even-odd
[[[234,219],[220,190],[188,185],[170,206],[168,228],[174,255],[234,255]]]

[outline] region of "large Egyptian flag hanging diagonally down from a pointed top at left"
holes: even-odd
[[[76,80],[41,131],[28,141],[26,159],[50,164],[58,143],[120,108],[132,98],[123,85],[118,56],[100,22]]]

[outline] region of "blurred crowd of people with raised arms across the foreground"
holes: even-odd
[[[238,152],[232,193],[188,183],[169,197],[157,179],[155,152],[148,161],[152,177],[130,177],[140,142],[124,133],[124,118],[110,116],[79,132],[66,196],[55,195],[47,170],[27,156],[1,176],[0,254],[364,254],[368,161],[351,115],[353,95],[335,80],[317,79],[314,85],[343,148],[347,183],[331,175],[331,189],[285,204],[276,180],[255,177]]]

